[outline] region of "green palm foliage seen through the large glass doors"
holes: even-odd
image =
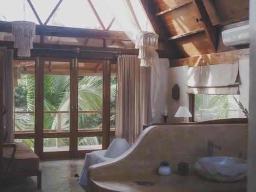
[[[69,111],[70,77],[66,75],[44,76],[44,111]],[[115,110],[116,78],[111,78],[111,110]],[[34,111],[35,76],[22,75],[15,88],[15,111]],[[102,110],[102,77],[78,77],[78,111]],[[61,114],[61,129],[69,131],[69,113]],[[111,127],[114,127],[115,116],[111,116]],[[55,130],[57,114],[44,114],[44,130]],[[95,129],[102,127],[102,114],[78,113],[78,129]],[[15,130],[34,130],[34,114],[16,113]],[[101,137],[78,138],[78,146],[101,144]],[[34,146],[34,139],[24,139],[29,146]],[[62,146],[69,146],[69,138],[62,138]],[[56,146],[56,139],[45,138],[44,147]]]

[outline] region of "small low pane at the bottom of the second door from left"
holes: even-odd
[[[69,138],[44,138],[44,152],[69,151]]]

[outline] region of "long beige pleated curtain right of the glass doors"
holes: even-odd
[[[151,68],[140,67],[137,55],[117,58],[116,137],[132,145],[151,122]]]

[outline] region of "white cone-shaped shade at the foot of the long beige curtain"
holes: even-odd
[[[116,158],[126,152],[129,148],[130,145],[125,139],[114,139],[103,156],[108,158]]]

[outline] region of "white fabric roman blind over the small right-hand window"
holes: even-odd
[[[187,93],[239,94],[239,63],[191,67],[188,69]]]

